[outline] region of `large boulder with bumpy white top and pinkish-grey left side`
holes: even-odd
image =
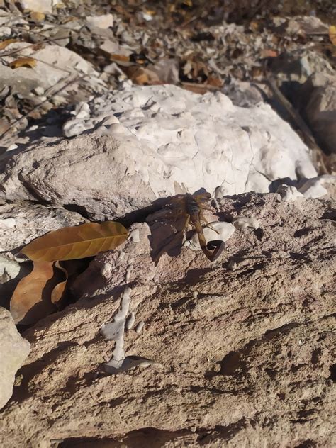
[[[264,103],[241,108],[220,92],[167,85],[126,86],[89,107],[91,118],[86,108],[65,124],[67,135],[84,135],[7,160],[0,195],[27,199],[33,191],[101,219],[185,191],[266,192],[277,179],[316,176],[306,145]]]

